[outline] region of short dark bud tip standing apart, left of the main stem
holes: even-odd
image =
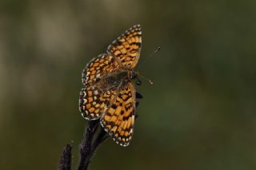
[[[61,156],[61,160],[58,165],[59,170],[70,170],[71,169],[71,144],[66,144],[64,151]]]

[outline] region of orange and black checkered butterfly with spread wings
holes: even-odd
[[[136,90],[133,79],[138,73],[142,29],[126,30],[106,50],[92,59],[82,71],[84,88],[79,110],[87,120],[100,119],[106,132],[122,146],[130,143],[134,132]]]

